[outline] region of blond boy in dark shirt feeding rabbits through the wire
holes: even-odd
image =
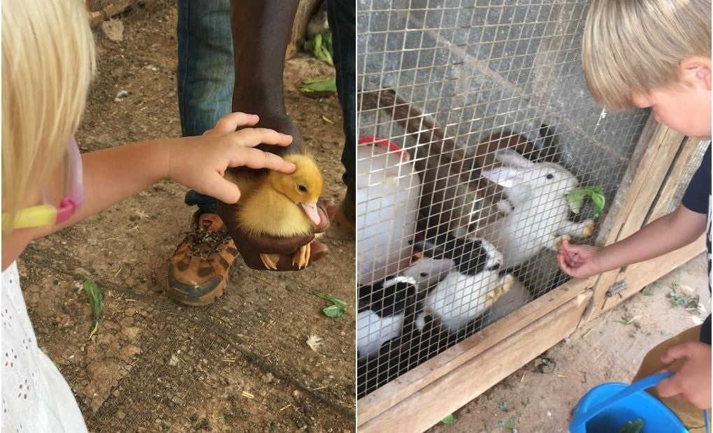
[[[651,108],[658,122],[690,137],[711,137],[711,1],[595,0],[583,36],[583,67],[593,97],[607,109]],[[598,248],[564,242],[560,267],[587,278],[653,259],[707,231],[711,271],[711,148],[682,204],[627,239]],[[691,432],[702,432],[711,407],[711,316],[661,343],[634,377],[676,374],[652,390]]]

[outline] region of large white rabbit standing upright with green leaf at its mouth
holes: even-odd
[[[577,178],[553,162],[535,163],[514,150],[496,152],[502,167],[483,170],[481,175],[505,188],[506,216],[478,229],[503,254],[503,268],[523,264],[543,248],[557,250],[561,239],[590,236],[594,221],[568,220],[565,197],[577,187]],[[509,212],[508,212],[509,209]]]

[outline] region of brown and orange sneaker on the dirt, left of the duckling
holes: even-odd
[[[189,306],[212,303],[222,296],[235,256],[237,249],[220,216],[201,214],[173,253],[166,295]]]

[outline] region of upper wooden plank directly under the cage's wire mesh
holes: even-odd
[[[394,407],[394,405],[399,404],[402,400],[411,398],[412,395],[421,392],[421,390],[436,380],[441,379],[441,377],[453,374],[456,368],[466,362],[470,362],[473,358],[478,358],[482,353],[500,344],[511,335],[528,329],[532,323],[545,315],[550,315],[555,309],[570,302],[573,298],[579,298],[581,293],[585,291],[590,293],[587,288],[590,287],[592,283],[593,281],[591,280],[568,281],[563,284],[563,286],[540,296],[540,298],[528,303],[506,318],[498,320],[479,333],[472,335],[470,338],[436,355],[434,358],[392,380],[378,390],[362,397],[357,402],[357,424],[359,426],[366,425],[367,422],[379,416],[382,412]],[[589,298],[589,296],[587,296],[587,298]],[[582,309],[584,309],[584,306],[582,306]],[[577,320],[579,320],[579,316]],[[543,348],[543,350],[549,347],[550,346],[547,346]],[[540,350],[538,353],[541,353],[543,350]],[[535,355],[538,355],[538,353],[535,353]],[[533,355],[533,357],[535,355]],[[503,374],[508,375],[522,365],[518,362],[524,363],[530,359],[532,358],[526,360],[523,358],[506,359],[501,360],[498,365]],[[487,382],[485,377],[481,379]],[[492,382],[488,386],[494,385],[495,383],[496,382]],[[448,413],[449,412],[445,412],[443,415]]]

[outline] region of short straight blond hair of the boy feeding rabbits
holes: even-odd
[[[680,63],[710,58],[711,0],[594,0],[582,41],[587,86],[611,110],[670,88]]]

